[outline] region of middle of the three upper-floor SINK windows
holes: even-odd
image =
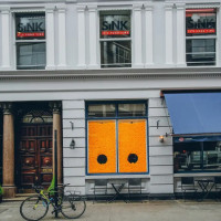
[[[102,11],[99,41],[102,67],[130,67],[130,11]]]

